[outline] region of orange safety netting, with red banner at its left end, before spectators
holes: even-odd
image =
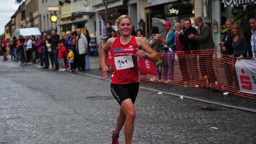
[[[214,49],[166,52],[159,53],[158,56],[160,61],[157,63],[140,60],[141,80],[177,86],[213,87],[231,94],[256,99],[255,94],[240,92],[234,57]],[[144,63],[146,63],[145,68]],[[113,68],[113,62],[108,64]],[[150,69],[144,70],[149,67]]]

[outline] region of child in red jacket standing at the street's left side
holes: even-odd
[[[58,47],[58,61],[61,66],[59,71],[66,71],[65,69],[65,62],[64,62],[64,54],[65,54],[66,48],[64,46],[64,40],[60,41],[60,46]]]

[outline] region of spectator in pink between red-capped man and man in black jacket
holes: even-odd
[[[186,56],[184,53],[184,46],[180,42],[179,35],[183,33],[181,23],[175,23],[175,47],[176,47],[176,54],[179,60],[179,66],[182,74],[182,83],[187,83],[189,81],[189,72],[187,69],[187,62]]]

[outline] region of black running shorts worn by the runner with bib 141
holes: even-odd
[[[130,98],[132,103],[134,104],[139,91],[139,83],[132,83],[126,85],[111,83],[110,89],[120,106],[121,103],[128,98]]]

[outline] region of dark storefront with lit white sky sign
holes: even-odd
[[[166,1],[169,1],[166,3]],[[172,1],[172,2],[170,2]],[[183,19],[194,21],[194,0],[149,0],[149,7],[146,8],[147,33],[154,26],[152,18],[159,18],[171,22],[174,28],[175,23]],[[153,23],[153,25],[152,25]],[[160,31],[162,28],[160,28]]]

